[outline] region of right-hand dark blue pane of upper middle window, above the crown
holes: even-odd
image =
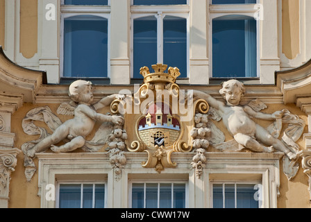
[[[187,77],[187,19],[165,16],[163,45],[164,64],[178,67],[179,77]]]

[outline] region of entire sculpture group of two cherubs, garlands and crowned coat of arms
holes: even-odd
[[[27,180],[31,180],[35,173],[35,153],[49,148],[54,153],[62,153],[78,148],[97,152],[106,147],[116,179],[121,178],[126,166],[126,152],[147,153],[148,159],[142,162],[142,167],[154,168],[158,173],[178,167],[172,159],[173,153],[192,152],[191,166],[200,178],[208,164],[205,156],[208,152],[240,152],[244,148],[248,149],[247,152],[285,153],[283,172],[289,179],[296,175],[300,150],[296,141],[305,128],[303,119],[285,109],[264,113],[262,110],[267,105],[259,99],[244,104],[242,99],[246,89],[238,80],[228,80],[221,85],[222,101],[201,91],[188,90],[185,93],[176,84],[180,74],[176,67],[169,67],[167,72],[167,65],[157,64],[152,68],[154,73],[150,73],[148,67],[140,69],[144,84],[133,97],[132,92],[128,96],[112,94],[93,103],[92,83],[75,81],[69,86],[71,101],[61,103],[57,110],[57,114],[72,116],[64,123],[48,106],[30,110],[22,127],[26,134],[40,137],[22,145]],[[112,114],[97,112],[109,106]],[[252,118],[273,123],[264,128]],[[53,133],[50,135],[46,128],[36,126],[34,121],[43,121]],[[94,129],[96,121],[102,124]],[[215,121],[222,121],[226,129],[218,128],[219,123]],[[131,133],[127,134],[126,128]],[[226,130],[232,138],[226,138]],[[92,133],[94,136],[88,140]]]

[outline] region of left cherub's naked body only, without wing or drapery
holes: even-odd
[[[27,151],[28,157],[34,157],[35,153],[46,151],[47,148],[51,148],[53,152],[70,152],[77,148],[81,148],[85,144],[85,137],[89,135],[96,121],[112,122],[117,125],[123,123],[123,118],[118,116],[108,116],[96,112],[101,108],[110,105],[114,99],[123,99],[119,94],[107,96],[101,99],[99,102],[92,105],[93,92],[92,83],[85,80],[76,80],[69,87],[70,98],[78,103],[74,109],[74,119],[69,119],[62,123],[52,135],[42,139],[41,142],[33,146],[33,148]],[[69,142],[62,146],[55,146],[63,139],[69,139]]]

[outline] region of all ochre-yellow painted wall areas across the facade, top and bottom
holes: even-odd
[[[0,0],[0,44],[4,44],[4,5],[5,0]],[[282,1],[282,49],[287,58],[295,58],[300,52],[299,42],[299,0],[283,0]],[[37,53],[37,0],[21,0],[21,27],[20,27],[20,52],[26,58],[32,58]],[[17,110],[12,115],[11,132],[16,134],[15,147],[21,148],[22,144],[37,136],[26,135],[22,130],[22,119],[26,113],[42,105],[49,105],[51,110],[56,113],[58,104],[40,104],[33,105],[30,103],[24,104],[22,108]],[[282,110],[287,108],[294,114],[306,120],[305,114],[301,112],[296,105],[271,105],[264,110],[272,113],[275,110]],[[61,117],[60,118],[65,118]],[[62,119],[64,120],[64,119]],[[260,121],[262,126],[268,126],[270,121]],[[133,123],[132,123],[133,124]],[[226,132],[226,128],[216,123],[217,126],[226,133],[226,140],[232,139]],[[131,126],[131,124],[128,123]],[[133,124],[134,125],[134,124]],[[132,125],[132,126],[133,126]],[[305,130],[307,133],[307,130]],[[131,136],[130,136],[131,137]],[[299,145],[304,146],[303,139],[299,140]],[[10,208],[24,208],[24,207],[40,207],[40,197],[37,196],[37,172],[33,176],[31,182],[26,182],[24,176],[24,155],[20,153],[17,155],[17,166],[15,172],[11,174],[10,181]],[[37,166],[37,159],[35,159]],[[308,192],[308,177],[303,173],[303,169],[299,169],[296,177],[288,181],[282,170],[283,162],[280,162],[280,196],[278,197],[278,207],[303,207],[310,208],[309,192]]]

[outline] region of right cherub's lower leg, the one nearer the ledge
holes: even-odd
[[[262,146],[262,144],[260,144],[258,141],[248,135],[237,133],[234,138],[237,143],[245,146],[246,148],[250,148],[252,151],[255,152],[271,153],[273,151],[271,147]]]

